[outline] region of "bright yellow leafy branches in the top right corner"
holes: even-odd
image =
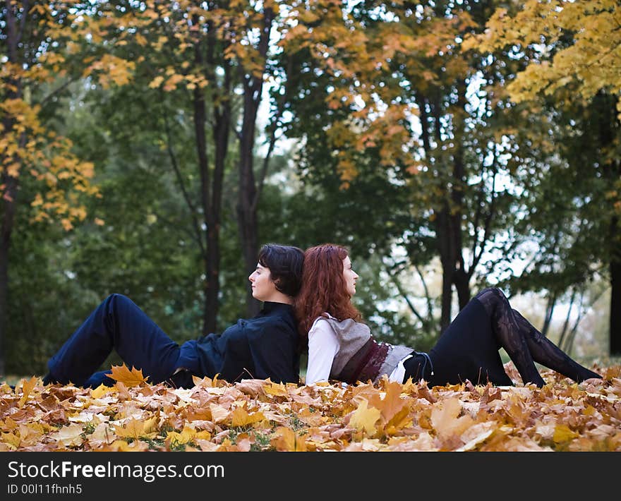
[[[533,99],[540,92],[551,95],[567,85],[586,100],[600,90],[618,95],[620,16],[621,4],[616,0],[529,0],[513,14],[499,8],[485,32],[466,38],[463,45],[481,52],[507,45],[538,48],[538,57],[507,85],[516,102]],[[561,38],[569,38],[569,44],[550,56]],[[621,119],[621,98],[617,110]]]

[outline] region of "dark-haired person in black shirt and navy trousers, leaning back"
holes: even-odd
[[[271,378],[299,382],[299,338],[293,299],[300,289],[303,251],[268,244],[248,279],[263,309],[238,320],[222,334],[207,334],[181,346],[121,294],[108,296],[48,362],[44,384],[114,385],[111,371],[95,372],[112,349],[149,382],[191,387],[193,375],[229,382]]]

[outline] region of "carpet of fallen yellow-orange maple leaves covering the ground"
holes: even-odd
[[[114,387],[0,385],[0,451],[621,451],[621,366],[594,370],[603,380],[581,384],[543,371],[541,389],[217,378],[174,389],[116,366]]]

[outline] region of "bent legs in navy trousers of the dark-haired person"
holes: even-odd
[[[150,382],[166,380],[179,359],[179,345],[126,296],[112,294],[97,306],[61,349],[49,359],[47,380],[83,385],[112,349],[129,368],[143,370]],[[97,380],[114,380],[103,375]]]

